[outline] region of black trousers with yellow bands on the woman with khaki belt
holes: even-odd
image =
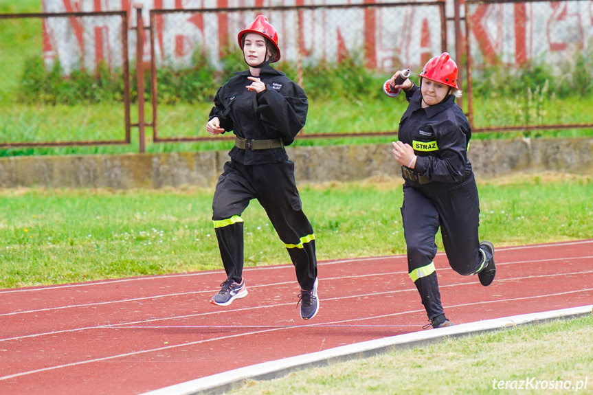
[[[260,165],[225,163],[212,201],[212,220],[227,278],[243,276],[243,219],[251,199],[258,199],[280,240],[287,247],[301,289],[313,289],[317,278],[315,235],[302,211],[294,163]]]

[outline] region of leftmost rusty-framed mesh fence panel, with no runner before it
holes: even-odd
[[[0,146],[130,144],[126,12],[4,14],[0,32]]]

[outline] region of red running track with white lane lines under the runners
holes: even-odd
[[[497,277],[435,264],[457,324],[593,302],[593,240],[496,249]],[[320,262],[300,319],[291,265],[245,269],[249,295],[208,301],[222,271],[0,291],[0,394],[140,394],[255,363],[422,330],[405,256]]]

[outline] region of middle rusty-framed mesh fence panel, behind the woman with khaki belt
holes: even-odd
[[[282,59],[275,67],[309,96],[310,123],[299,138],[394,134],[392,117],[368,117],[362,107],[358,114],[344,114],[341,125],[327,114],[339,113],[344,101],[379,100],[385,78],[398,67],[420,69],[447,47],[442,1],[150,10],[154,142],[227,138],[205,132],[212,107],[207,98],[232,72],[247,68],[236,37],[258,14],[280,36]]]

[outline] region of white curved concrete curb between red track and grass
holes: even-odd
[[[245,366],[244,368],[213,374],[212,376],[187,381],[186,383],[170,385],[169,387],[164,387],[159,390],[146,392],[144,395],[223,394],[224,392],[243,385],[247,379],[276,379],[285,376],[290,372],[295,372],[304,368],[329,365],[330,363],[348,361],[350,359],[372,357],[396,348],[411,348],[427,343],[436,343],[447,337],[464,337],[518,325],[540,324],[555,319],[581,317],[591,314],[592,309],[593,305],[563,308],[555,311],[486,319],[484,321],[450,326],[449,328],[423,330],[421,332],[406,333],[405,335],[363,341],[361,343],[330,348],[328,350],[298,355],[296,357],[289,357],[278,361],[268,361],[256,365]]]

